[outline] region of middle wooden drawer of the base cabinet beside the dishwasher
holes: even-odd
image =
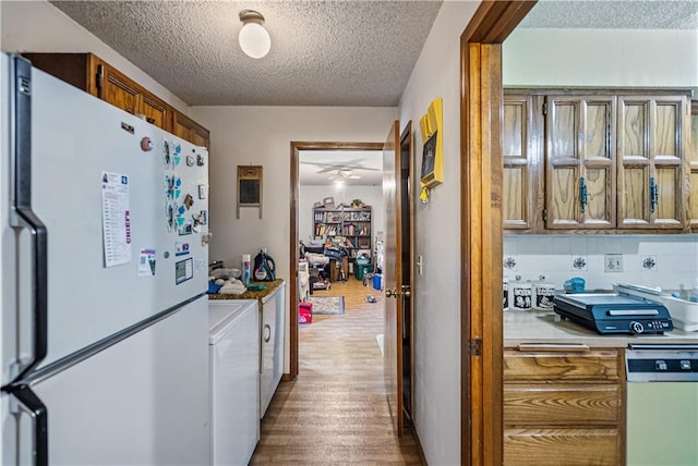
[[[505,426],[600,426],[619,421],[614,384],[505,384]]]

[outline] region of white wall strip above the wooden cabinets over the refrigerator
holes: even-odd
[[[4,52],[92,52],[183,113],[188,106],[46,0],[0,1]]]

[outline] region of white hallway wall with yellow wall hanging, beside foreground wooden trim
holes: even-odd
[[[444,2],[402,95],[400,121],[416,132],[430,102],[444,99],[444,183],[429,204],[414,193],[414,405],[412,418],[429,464],[460,464],[460,34],[479,2]]]

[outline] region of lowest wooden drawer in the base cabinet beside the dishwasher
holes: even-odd
[[[505,429],[505,466],[617,466],[617,429]]]

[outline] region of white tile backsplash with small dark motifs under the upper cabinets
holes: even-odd
[[[682,235],[506,235],[504,277],[547,281],[563,289],[580,277],[587,290],[613,283],[689,289],[698,278],[698,234]]]

